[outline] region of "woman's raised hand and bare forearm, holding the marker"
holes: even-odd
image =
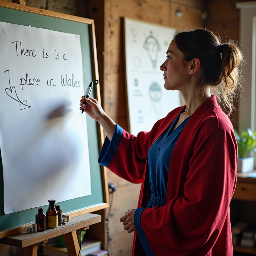
[[[82,110],[84,96],[80,100],[80,110]],[[91,118],[98,121],[103,127],[104,132],[108,136],[109,140],[112,140],[113,134],[115,132],[116,123],[104,112],[99,102],[90,97],[85,98],[87,102],[84,112],[86,112]]]

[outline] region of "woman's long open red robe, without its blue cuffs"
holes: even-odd
[[[151,196],[147,154],[184,106],[137,137],[123,131],[108,168],[141,183],[139,207]],[[166,206],[147,208],[141,227],[156,256],[233,255],[229,204],[237,179],[237,142],[232,124],[212,96],[184,127],[171,156]],[[134,232],[132,255],[143,256]]]

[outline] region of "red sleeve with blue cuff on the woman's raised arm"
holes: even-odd
[[[178,113],[181,109],[182,107],[173,110],[168,116]],[[148,150],[164,123],[165,118],[157,121],[150,132],[140,132],[137,136],[127,133],[117,124],[111,142],[108,138],[105,139],[99,163],[132,183],[141,183]]]

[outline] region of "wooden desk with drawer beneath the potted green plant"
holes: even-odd
[[[254,170],[253,172],[255,172]],[[237,174],[237,185],[232,200],[256,202],[256,178],[247,177],[249,173]],[[230,209],[231,211],[231,209]],[[243,252],[256,255],[256,247],[233,246],[234,252]]]

